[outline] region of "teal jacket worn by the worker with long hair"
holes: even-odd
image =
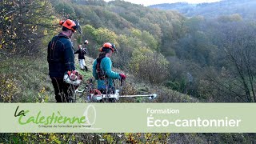
[[[94,78],[98,80],[98,90],[106,90],[106,88],[108,88],[109,90],[110,89],[114,90],[113,79],[121,79],[121,78],[118,73],[111,70],[112,62],[110,58],[108,57],[102,58],[102,62],[100,64],[101,70],[103,70],[106,74],[106,80],[98,79],[96,66],[97,66],[97,60],[94,61],[93,75],[94,75]],[[108,87],[106,87],[106,82],[108,83]]]

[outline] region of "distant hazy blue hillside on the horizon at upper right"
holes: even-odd
[[[186,2],[164,3],[149,6],[161,10],[178,10],[188,17],[202,15],[206,18],[217,18],[222,15],[240,14],[242,18],[256,18],[256,2],[251,0],[222,0],[213,3],[190,4]]]

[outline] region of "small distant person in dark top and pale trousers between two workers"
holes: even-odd
[[[85,45],[88,43],[88,41],[85,41]],[[79,61],[79,66],[81,68],[81,70],[88,70],[87,66],[86,66],[86,62],[85,62],[85,54],[87,54],[87,49],[82,48],[82,45],[78,46],[78,50],[74,53],[74,54],[78,54],[78,61]]]

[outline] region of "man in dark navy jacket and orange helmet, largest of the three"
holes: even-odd
[[[70,92],[72,85],[63,81],[67,71],[75,70],[74,67],[74,48],[70,38],[78,30],[79,23],[67,19],[61,21],[62,32],[48,44],[47,61],[49,63],[49,75],[54,86],[55,99],[57,102],[70,102]]]

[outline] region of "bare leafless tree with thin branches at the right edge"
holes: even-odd
[[[245,102],[256,102],[256,29],[243,22],[230,22],[222,25],[220,31],[219,46],[223,56],[226,56],[229,77],[226,77],[225,83],[218,82],[218,86]]]

